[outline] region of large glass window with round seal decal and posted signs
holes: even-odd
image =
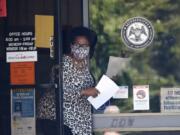
[[[180,112],[179,11],[179,1],[89,1],[90,27],[98,34],[93,74],[97,81],[106,74],[129,92],[128,98],[111,98],[95,113],[104,113],[109,104],[120,113]],[[149,106],[139,106],[136,96],[146,94]]]

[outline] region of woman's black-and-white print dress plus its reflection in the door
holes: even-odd
[[[63,90],[64,90],[64,124],[72,129],[73,135],[92,134],[91,104],[87,97],[80,96],[81,90],[94,86],[94,79],[89,72],[88,66],[79,69],[73,64],[70,56],[63,57]],[[45,101],[42,98],[38,106],[38,117],[55,119],[53,101]],[[53,100],[53,99],[50,99]],[[44,103],[45,104],[44,104]],[[51,107],[48,107],[48,102]],[[44,107],[43,107],[44,106]],[[49,108],[49,109],[44,109]],[[48,112],[47,112],[48,111]],[[52,112],[49,112],[52,111]],[[48,116],[45,116],[47,114]]]

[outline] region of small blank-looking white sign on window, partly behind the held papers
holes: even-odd
[[[128,98],[128,86],[119,86],[119,90],[113,96],[114,99]]]

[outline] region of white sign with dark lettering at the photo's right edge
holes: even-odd
[[[180,88],[161,88],[161,112],[180,112]]]

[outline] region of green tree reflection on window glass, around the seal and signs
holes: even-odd
[[[161,87],[179,87],[180,1],[91,0],[90,27],[98,33],[91,68],[96,80],[106,73],[109,57],[129,58],[128,66],[112,78],[129,87],[128,99],[111,99],[121,112],[160,112]],[[151,46],[135,51],[121,38],[123,24],[132,17],[148,19],[155,31]],[[150,110],[133,110],[133,85],[149,85]]]

